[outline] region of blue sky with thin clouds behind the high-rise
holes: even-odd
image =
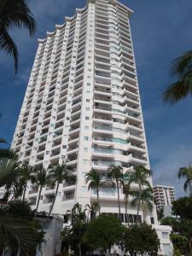
[[[122,0],[134,10],[131,16],[137,75],[143,104],[154,183],[176,186],[183,195],[183,181],[177,179],[180,166],[192,161],[192,99],[174,107],[165,106],[162,92],[174,78],[169,70],[172,60],[192,49],[192,2],[190,0]],[[0,52],[0,137],[10,143],[20,113],[32,62],[38,47],[37,38],[53,31],[64,17],[83,7],[85,0],[29,1],[37,20],[37,32],[29,38],[25,30],[12,32],[20,51],[20,67],[14,73],[13,62]]]

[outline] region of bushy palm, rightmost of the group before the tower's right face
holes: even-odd
[[[142,205],[143,213],[147,211],[147,209],[152,212],[154,208],[154,195],[153,189],[148,187],[147,189],[143,189],[140,191],[135,191],[134,199],[131,202],[132,206]],[[138,216],[137,216],[137,224],[138,224]]]

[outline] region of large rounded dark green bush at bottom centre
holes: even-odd
[[[84,241],[93,249],[106,252],[114,243],[121,241],[124,230],[118,218],[100,215],[88,224]]]

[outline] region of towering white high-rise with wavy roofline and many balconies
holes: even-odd
[[[132,14],[115,0],[90,0],[63,25],[39,40],[26,96],[15,129],[12,148],[30,166],[61,163],[77,173],[76,183],[63,183],[53,212],[65,214],[76,202],[96,201],[88,191],[90,169],[105,179],[111,165],[124,172],[149,168],[129,18]],[[151,181],[151,177],[149,177]],[[125,222],[124,195],[121,218]],[[43,189],[39,210],[48,211],[55,190]],[[36,206],[38,189],[26,198]],[[101,212],[118,212],[117,191],[100,189]],[[137,209],[129,207],[131,222]],[[157,224],[156,212],[139,212]]]

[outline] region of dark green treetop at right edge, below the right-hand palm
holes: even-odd
[[[173,201],[172,212],[181,218],[192,219],[192,196],[181,197]]]

